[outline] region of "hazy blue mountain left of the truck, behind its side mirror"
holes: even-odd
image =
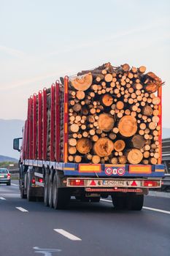
[[[24,121],[0,119],[0,155],[19,159],[19,152],[13,150],[13,139],[22,137]]]

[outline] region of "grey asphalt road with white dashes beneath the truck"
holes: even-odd
[[[20,199],[17,184],[0,184],[1,256],[170,255],[170,198],[147,196],[139,212],[115,211],[109,198],[55,211]]]

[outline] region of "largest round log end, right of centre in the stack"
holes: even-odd
[[[118,129],[124,137],[131,137],[137,131],[137,121],[133,116],[123,116],[118,124]]]

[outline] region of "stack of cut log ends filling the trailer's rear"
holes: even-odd
[[[161,79],[110,63],[69,78],[69,162],[156,164]]]

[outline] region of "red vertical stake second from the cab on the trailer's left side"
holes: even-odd
[[[33,159],[36,159],[36,94],[33,97]]]

